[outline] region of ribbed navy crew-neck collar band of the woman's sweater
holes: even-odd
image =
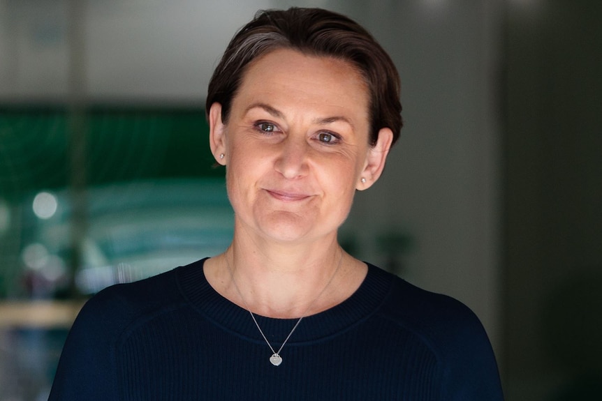
[[[249,311],[225,298],[210,285],[205,277],[201,259],[176,269],[177,283],[182,295],[203,317],[230,333],[247,340],[263,342]],[[287,344],[317,341],[337,335],[372,316],[390,292],[393,276],[367,263],[368,272],[360,287],[342,303],[315,315],[304,317]],[[298,321],[256,315],[258,324],[270,342],[277,345],[284,340]]]

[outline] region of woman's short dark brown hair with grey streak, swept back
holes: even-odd
[[[221,119],[230,107],[251,61],[280,48],[348,61],[367,80],[369,88],[369,143],[374,146],[381,128],[390,128],[393,142],[402,129],[399,74],[390,56],[372,35],[350,18],[321,8],[261,10],[230,40],[207,90],[207,113],[221,104]]]

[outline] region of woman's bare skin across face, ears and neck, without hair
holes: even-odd
[[[247,304],[266,315],[300,313],[335,271],[333,287],[345,294],[358,287],[365,265],[345,254],[337,270],[337,229],[355,190],[379,178],[392,140],[383,128],[369,146],[368,102],[365,80],[349,63],[282,49],[249,65],[227,123],[221,105],[212,105],[210,145],[226,165],[235,211],[233,245],[205,271],[218,292],[240,298],[223,275],[225,257]],[[266,287],[270,295],[258,295]],[[278,312],[274,304],[290,306]]]

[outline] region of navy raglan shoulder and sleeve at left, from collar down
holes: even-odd
[[[49,400],[117,400],[119,341],[145,321],[186,303],[179,290],[180,269],[91,297],[69,331]]]

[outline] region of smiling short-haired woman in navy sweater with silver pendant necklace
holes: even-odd
[[[207,96],[230,247],[94,296],[50,400],[501,400],[464,305],[337,243],[400,112],[395,66],[358,24],[320,9],[258,13]]]

